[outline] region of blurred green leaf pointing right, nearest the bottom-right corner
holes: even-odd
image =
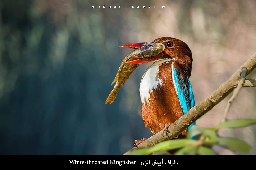
[[[232,151],[249,152],[251,147],[242,140],[234,138],[218,138],[219,145],[225,146]]]

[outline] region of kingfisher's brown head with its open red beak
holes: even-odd
[[[150,42],[128,44],[120,47],[141,48],[147,43]],[[160,60],[177,61],[187,75],[190,76],[193,58],[191,50],[185,42],[172,37],[162,37],[152,41],[151,43],[162,43],[164,44],[165,49],[156,56],[140,58],[123,64],[142,64]]]

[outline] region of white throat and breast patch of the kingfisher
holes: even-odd
[[[145,101],[150,104],[150,93],[163,84],[163,80],[161,78],[156,78],[157,73],[159,72],[159,66],[162,63],[169,61],[173,61],[173,59],[156,61],[145,71],[140,84],[140,96],[143,104],[145,104]]]

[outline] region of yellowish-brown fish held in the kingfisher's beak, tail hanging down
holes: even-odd
[[[115,79],[111,83],[111,85],[113,85],[116,82],[113,90],[110,92],[108,98],[106,99],[105,104],[111,104],[115,101],[118,90],[124,85],[125,81],[130,77],[133,71],[140,65],[123,63],[132,61],[134,59],[156,56],[164,49],[165,46],[162,43],[145,43],[141,48],[137,48],[128,54],[124,58],[121,66],[118,69]]]

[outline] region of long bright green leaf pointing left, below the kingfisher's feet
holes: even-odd
[[[168,140],[164,142],[157,143],[155,146],[150,148],[143,148],[133,151],[131,155],[148,155],[152,152],[156,152],[159,150],[173,150],[182,148],[187,145],[187,142],[194,142],[195,140],[191,139],[175,139],[175,140]]]

